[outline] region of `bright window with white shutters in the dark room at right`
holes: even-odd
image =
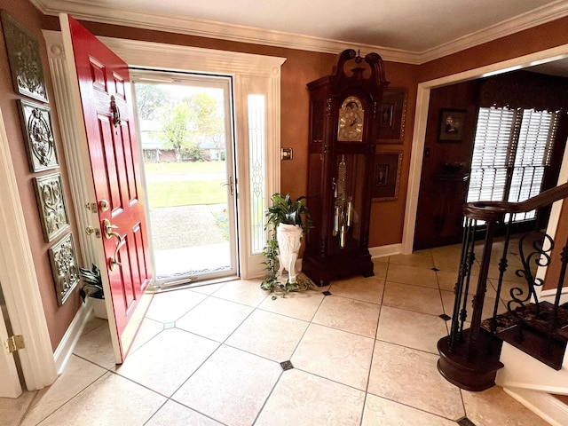
[[[540,193],[557,125],[558,114],[548,111],[479,108],[467,201],[517,202]]]

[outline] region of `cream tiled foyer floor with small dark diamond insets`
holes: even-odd
[[[374,277],[285,299],[256,280],[157,294],[122,366],[93,319],[56,383],[0,398],[0,424],[548,424],[498,387],[439,375],[458,260],[456,247],[376,259]]]

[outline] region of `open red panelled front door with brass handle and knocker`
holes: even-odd
[[[152,278],[130,77],[122,59],[67,18],[110,282],[110,322],[115,323],[122,361],[128,351],[123,337],[135,334],[125,329]]]

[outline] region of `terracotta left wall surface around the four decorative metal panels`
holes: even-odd
[[[37,37],[41,46],[43,75],[45,76],[48,97],[50,99],[48,106],[51,107],[51,121],[54,128],[60,167],[57,170],[46,170],[39,173],[32,173],[28,166],[28,156],[26,154],[26,146],[24,145],[24,138],[20,127],[18,106],[16,104],[16,99],[26,99],[26,97],[16,94],[13,89],[4,43],[4,34],[0,34],[0,38],[2,38],[0,41],[0,69],[2,70],[2,72],[0,72],[0,109],[2,109],[2,114],[4,115],[4,125],[6,127],[10,154],[12,155],[13,167],[17,178],[18,190],[26,220],[29,244],[32,256],[34,257],[37,280],[39,281],[38,291],[42,297],[43,310],[47,319],[51,346],[55,350],[61,341],[62,336],[71,324],[72,319],[75,317],[75,313],[81,304],[81,299],[75,291],[74,294],[69,296],[67,302],[63,304],[63,306],[59,307],[57,304],[57,296],[51,276],[51,265],[48,256],[48,248],[52,243],[46,243],[43,240],[43,232],[33,186],[33,177],[39,177],[55,171],[60,171],[64,180],[64,190],[65,193],[67,193],[67,201],[69,201],[68,194],[70,193],[70,189],[67,185],[68,179],[65,170],[65,157],[61,146],[61,138],[59,137],[57,111],[55,110],[55,103],[53,100],[55,97],[53,96],[51,86],[49,63],[45,45],[43,43],[43,36],[41,35],[43,15],[37,12],[34,6],[28,4],[27,0],[21,0],[18,2],[0,0],[0,8],[12,15],[12,18],[20,22],[23,27],[27,28],[28,31]],[[68,208],[69,206],[67,203],[67,209]],[[70,217],[70,221],[72,225],[72,232],[76,235],[74,218]],[[56,241],[59,241],[59,239]],[[75,247],[77,247],[76,241]]]

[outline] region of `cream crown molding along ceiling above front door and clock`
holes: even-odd
[[[451,42],[440,44],[426,51],[405,51],[372,44],[360,44],[342,40],[331,40],[314,36],[303,36],[282,31],[252,28],[235,24],[180,17],[171,14],[150,14],[116,6],[101,8],[85,0],[30,0],[46,15],[68,13],[77,20],[89,20],[105,24],[132,28],[166,31],[188,36],[216,38],[221,40],[262,44],[300,51],[318,51],[336,54],[352,49],[356,44],[361,53],[375,51],[384,60],[420,65],[430,60],[469,49],[482,43],[491,42],[519,31],[568,16],[568,2],[557,0],[531,12],[518,15],[499,24],[461,36]]]

